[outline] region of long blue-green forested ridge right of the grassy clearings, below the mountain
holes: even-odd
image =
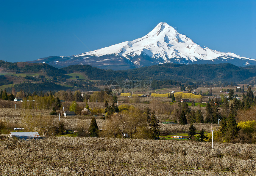
[[[235,85],[235,82],[241,82],[252,76],[256,76],[256,68],[239,68],[229,63],[222,64],[160,64],[148,67],[129,69],[124,71],[103,70],[90,65],[71,65],[62,68],[67,73],[82,72],[93,80],[111,80],[116,81],[126,79],[149,79],[149,80],[177,80],[180,82],[211,82],[211,84],[229,84]],[[221,82],[221,83],[220,83]],[[177,83],[171,82],[171,85]],[[159,87],[162,85],[159,84]],[[222,86],[222,85],[220,85]],[[155,86],[154,86],[155,87]]]

